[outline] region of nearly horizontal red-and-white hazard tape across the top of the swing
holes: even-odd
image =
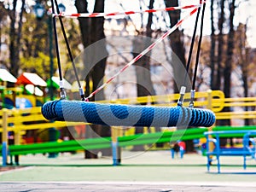
[[[204,2],[203,2],[204,3]],[[113,13],[81,13],[81,14],[67,14],[67,13],[61,13],[61,14],[55,14],[53,16],[55,17],[109,17],[109,16],[115,16],[115,15],[132,15],[132,14],[143,14],[143,13],[154,13],[154,12],[160,12],[160,11],[172,11],[172,10],[179,10],[179,9],[191,9],[191,8],[198,8],[201,6],[200,4],[193,4],[193,5],[186,5],[182,7],[169,7],[164,9],[148,9],[148,10],[141,10],[141,11],[125,11],[125,12],[113,12]]]

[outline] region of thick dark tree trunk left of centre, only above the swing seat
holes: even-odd
[[[78,9],[79,13],[88,13],[88,3],[87,1],[76,0],[75,6]],[[104,1],[96,0],[93,12],[104,12]],[[102,79],[104,77],[106,61],[107,61],[107,49],[106,49],[106,37],[104,34],[104,18],[96,17],[96,18],[79,18],[79,26],[81,31],[82,42],[84,45],[84,49],[87,49],[91,44],[98,43],[101,46],[101,55],[105,55],[101,61],[97,61],[97,57],[99,56],[98,47],[90,46],[87,49],[87,53],[85,54],[85,70],[87,70],[88,74],[85,78],[86,88],[85,95],[90,95],[90,90],[96,90],[98,86],[102,84]],[[100,41],[101,40],[101,41]],[[90,88],[90,80],[93,82],[92,89]],[[97,93],[97,99],[104,99],[103,91]],[[95,98],[92,98],[95,100]]]

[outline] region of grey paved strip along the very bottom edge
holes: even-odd
[[[208,185],[195,183],[1,183],[1,191],[111,191],[111,192],[255,192],[252,186]]]

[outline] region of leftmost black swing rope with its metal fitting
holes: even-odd
[[[52,14],[55,15],[55,8],[54,8],[54,2],[51,0],[51,5],[52,5]],[[56,28],[56,19],[55,17],[52,18],[53,22],[53,28],[54,28],[54,34],[55,34],[55,50],[56,50],[56,56],[57,56],[57,61],[58,61],[58,70],[59,70],[59,76],[60,76],[60,81],[62,82],[62,73],[61,73],[61,58],[60,58],[60,49],[59,49],[59,44],[58,44],[58,35],[57,35],[57,28]],[[52,78],[52,77],[50,77]],[[64,87],[62,85],[60,86],[61,90],[61,99],[66,98],[66,92],[64,90]]]

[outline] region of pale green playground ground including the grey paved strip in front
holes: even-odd
[[[84,160],[84,154],[42,154],[20,157],[20,169],[0,172],[0,189],[16,191],[256,191],[256,162],[241,157],[222,157],[221,173],[206,157],[185,154],[172,160],[169,151],[123,153],[122,166],[111,158]]]

